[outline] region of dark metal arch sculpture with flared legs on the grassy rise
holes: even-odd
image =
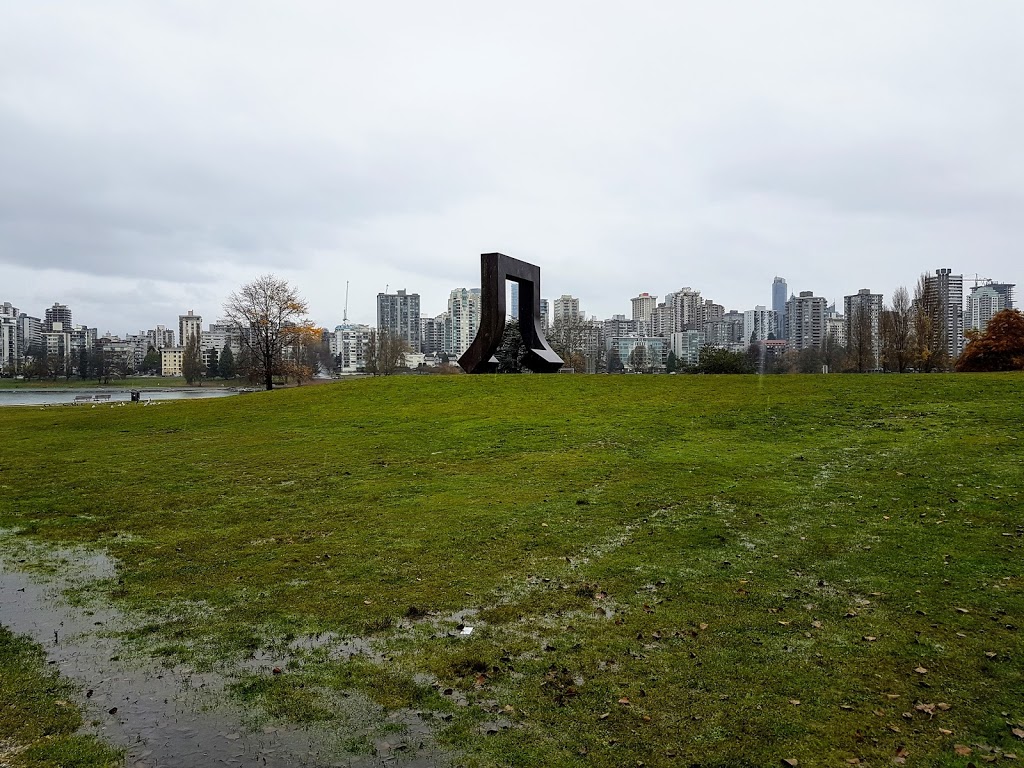
[[[505,281],[519,284],[519,333],[526,345],[523,366],[537,374],[556,374],[562,358],[541,330],[541,267],[503,253],[480,254],[480,328],[459,365],[467,374],[498,371],[495,352],[505,333]]]

